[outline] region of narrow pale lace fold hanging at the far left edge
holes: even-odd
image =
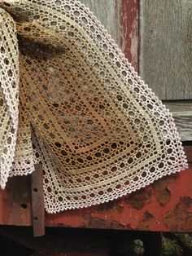
[[[15,22],[0,9],[0,186],[5,188],[15,155],[19,117],[19,51]]]

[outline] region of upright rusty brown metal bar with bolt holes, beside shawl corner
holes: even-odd
[[[45,235],[45,209],[43,196],[42,165],[35,165],[31,175],[33,236]]]

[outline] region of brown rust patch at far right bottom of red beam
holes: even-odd
[[[192,198],[190,196],[182,196],[174,209],[164,214],[164,223],[170,231],[191,232],[192,212],[189,212],[191,206]]]

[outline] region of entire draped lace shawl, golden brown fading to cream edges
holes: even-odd
[[[41,162],[48,213],[187,167],[172,114],[74,0],[0,1],[0,185]]]

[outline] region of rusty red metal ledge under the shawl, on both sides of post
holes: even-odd
[[[191,147],[185,147],[191,161]],[[192,232],[192,166],[116,201],[83,210],[46,214],[46,226]],[[29,177],[0,190],[0,224],[32,225]]]

